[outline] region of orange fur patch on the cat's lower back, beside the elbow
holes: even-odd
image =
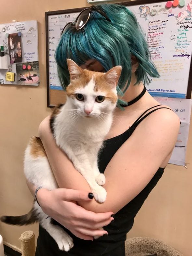
[[[31,155],[36,158],[38,156],[47,156],[45,149],[43,147],[43,143],[39,137],[31,137],[29,141],[29,145],[31,146]]]

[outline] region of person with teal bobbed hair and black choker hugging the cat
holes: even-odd
[[[99,154],[107,199],[99,204],[88,198],[88,183],[56,146],[49,129],[50,117],[45,118],[39,136],[59,188],[39,189],[37,200],[55,224],[72,236],[74,247],[69,252],[60,251],[39,226],[36,256],[124,256],[126,234],[161,178],[179,131],[177,115],[146,91],[145,85],[159,74],[132,12],[122,5],[104,4],[87,8],[83,14],[64,28],[55,59],[64,89],[70,82],[67,58],[98,72],[122,66],[113,125]],[[34,195],[36,188],[29,182],[28,186]]]

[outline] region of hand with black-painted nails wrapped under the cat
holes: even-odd
[[[93,240],[93,236],[107,234],[99,228],[114,220],[113,212],[94,213],[76,204],[76,201],[91,201],[88,192],[73,189],[55,189],[49,191],[41,188],[37,200],[42,210],[75,236],[84,240]]]

